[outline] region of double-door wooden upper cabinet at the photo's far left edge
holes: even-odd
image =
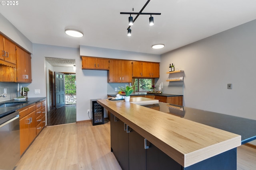
[[[2,35],[0,35],[0,53],[0,63],[16,68],[16,45]]]

